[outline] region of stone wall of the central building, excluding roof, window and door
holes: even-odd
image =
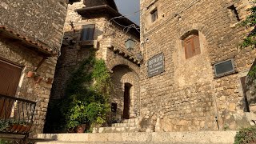
[[[114,22],[110,22],[109,14],[93,14],[93,18],[82,18],[75,12],[76,9],[85,7],[83,2],[74,2],[68,6],[68,14],[64,27],[65,34],[62,44],[62,54],[58,59],[58,68],[54,77],[54,88],[52,98],[58,99],[65,96],[66,84],[69,81],[72,71],[74,71],[83,59],[90,56],[90,51],[94,51],[95,58],[102,58],[106,62],[113,79],[112,102],[118,103],[117,120],[122,118],[124,84],[133,85],[131,89],[130,117],[135,117],[139,113],[139,66],[135,62],[136,54],[139,53],[139,38]],[[73,24],[73,28],[70,25]],[[82,26],[94,24],[94,46],[82,46],[80,37]],[[133,38],[135,48],[132,51],[126,50],[125,42],[128,38]],[[133,57],[130,59],[130,57]],[[122,69],[122,67],[126,67]]]

